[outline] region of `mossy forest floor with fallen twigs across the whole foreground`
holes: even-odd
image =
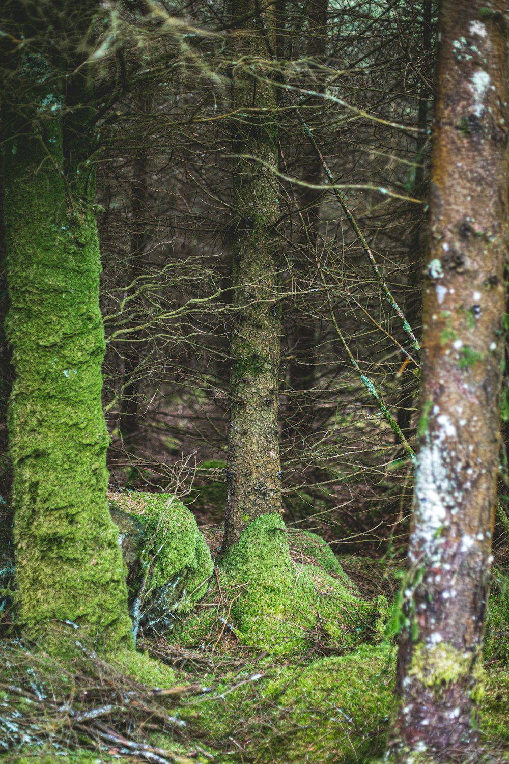
[[[155,644],[160,650],[160,643]],[[93,749],[93,725],[98,722],[101,729],[104,721],[115,734],[166,751],[162,761],[175,764],[190,764],[189,756],[197,764],[211,756],[216,764],[375,762],[385,749],[395,652],[385,642],[343,656],[307,662],[293,656],[282,662],[264,653],[249,656],[234,649],[221,656],[209,650],[201,659],[189,653],[184,671],[128,650],[101,659],[88,653],[72,665],[58,665],[14,647],[2,652],[0,740],[6,734],[19,740],[20,730],[30,734],[36,729],[40,742],[12,746],[0,758],[8,764],[36,759],[43,764],[110,764],[118,760],[111,756],[115,746]],[[176,654],[166,646],[167,660]],[[182,651],[178,654],[182,659]],[[509,750],[509,669],[488,669],[482,760],[501,762]],[[24,695],[9,694],[6,687],[13,686]],[[198,686],[198,691],[179,694],[183,686]],[[154,700],[156,688],[176,690],[176,697],[163,694]],[[76,712],[94,709],[105,709],[104,715],[92,714],[89,727],[78,734],[69,720],[76,719]],[[165,714],[172,724],[185,726],[173,730]],[[496,752],[495,759],[489,752]]]

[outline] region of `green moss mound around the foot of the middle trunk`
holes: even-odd
[[[309,649],[344,652],[379,638],[385,598],[362,599],[327,545],[304,541],[307,554],[298,562],[279,515],[254,520],[217,565],[205,601],[174,622],[172,639],[186,647],[219,649],[233,639],[291,655]]]

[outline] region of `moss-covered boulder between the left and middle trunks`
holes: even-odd
[[[172,494],[111,491],[111,517],[127,565],[131,609],[158,629],[205,596],[211,554],[192,513]]]

